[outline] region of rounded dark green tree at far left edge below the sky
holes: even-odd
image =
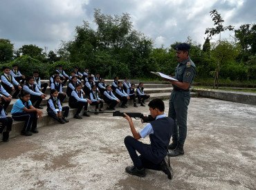
[[[9,39],[0,39],[0,63],[8,62],[13,57],[13,44]]]

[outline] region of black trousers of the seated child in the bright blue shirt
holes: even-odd
[[[34,131],[37,129],[37,113],[12,113],[12,119],[15,121],[25,121],[22,131]]]

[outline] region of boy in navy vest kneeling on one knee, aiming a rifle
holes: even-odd
[[[148,104],[150,115],[156,120],[146,124],[138,133],[134,127],[131,117],[125,114],[129,122],[131,133],[134,137],[125,137],[125,146],[134,166],[126,167],[125,171],[131,175],[145,177],[145,169],[163,171],[172,180],[173,172],[170,160],[167,158],[167,146],[174,130],[174,120],[166,117],[165,104],[161,99],[153,99]],[[149,135],[150,144],[138,141],[141,137]],[[137,155],[136,151],[140,153]]]

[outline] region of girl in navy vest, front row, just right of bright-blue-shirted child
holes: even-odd
[[[62,115],[62,111],[64,114]],[[60,104],[60,99],[58,98],[58,92],[53,89],[51,90],[51,96],[47,101],[47,113],[50,117],[57,120],[61,124],[69,122],[66,120],[68,117],[69,107],[63,106]]]

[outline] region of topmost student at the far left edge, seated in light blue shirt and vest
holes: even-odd
[[[3,88],[6,89],[9,94],[12,91],[15,91],[15,93],[13,93],[12,95],[12,98],[17,99],[22,88],[21,85],[15,80],[15,77],[12,77],[12,75],[10,75],[10,67],[3,66],[2,70],[3,75],[1,75],[1,84]]]

